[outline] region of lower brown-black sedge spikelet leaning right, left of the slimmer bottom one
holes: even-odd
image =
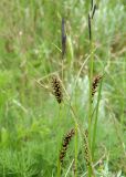
[[[61,162],[61,164],[63,164],[64,157],[65,157],[66,152],[67,152],[69,144],[70,144],[72,137],[74,136],[74,134],[75,134],[75,131],[72,128],[64,136],[63,143],[62,143],[62,148],[61,148],[61,152],[60,152],[60,162]]]

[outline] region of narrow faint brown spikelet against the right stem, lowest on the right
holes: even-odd
[[[87,129],[84,132],[84,157],[86,162],[86,166],[91,165],[90,149],[88,149],[88,132]]]

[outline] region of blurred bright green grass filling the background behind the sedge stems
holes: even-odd
[[[94,73],[103,73],[94,164],[96,177],[126,176],[126,2],[97,0],[93,40]],[[64,81],[78,122],[87,128],[90,1],[0,1],[0,177],[55,177],[62,138],[75,126],[67,102],[35,80],[61,70],[61,19],[66,18]],[[85,62],[86,61],[86,62]],[[75,79],[77,77],[76,88]],[[50,86],[50,81],[44,84]],[[74,91],[74,92],[73,92]],[[98,93],[96,94],[98,95]],[[96,97],[94,106],[96,105]],[[94,115],[95,117],[95,115]],[[62,176],[77,154],[77,176],[86,173],[82,136],[72,140]],[[75,153],[76,150],[76,153]],[[119,175],[120,173],[120,175]]]

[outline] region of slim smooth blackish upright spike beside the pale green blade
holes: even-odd
[[[66,33],[65,33],[65,20],[64,20],[64,18],[62,19],[61,32],[62,32],[62,59],[63,59],[64,54],[65,54],[65,51],[66,51]]]

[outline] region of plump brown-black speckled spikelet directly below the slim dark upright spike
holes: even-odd
[[[62,85],[61,81],[56,75],[53,75],[52,77],[52,88],[53,88],[53,95],[55,96],[59,104],[63,101],[63,92],[62,92]]]

